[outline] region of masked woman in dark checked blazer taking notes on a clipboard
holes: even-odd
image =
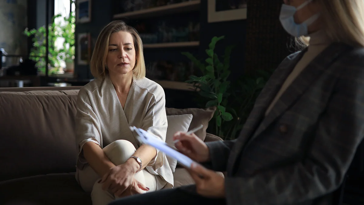
[[[278,66],[240,136],[205,144],[175,134],[204,165],[189,169],[195,185],[110,205],[332,203],[364,134],[364,1],[285,0],[280,20],[309,46]]]

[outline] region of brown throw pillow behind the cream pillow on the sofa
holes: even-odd
[[[167,115],[183,115],[183,114],[192,114],[193,119],[191,121],[190,127],[188,130],[191,130],[199,125],[203,125],[203,128],[199,131],[195,132],[195,135],[198,138],[205,140],[206,138],[206,129],[209,126],[209,121],[214,116],[216,107],[210,107],[206,109],[199,108],[187,108],[187,109],[176,109],[176,108],[166,108]]]

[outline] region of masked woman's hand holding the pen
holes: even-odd
[[[210,160],[209,148],[195,134],[186,135],[185,132],[176,132],[173,136],[175,147],[179,152],[189,156],[197,162],[207,162]]]

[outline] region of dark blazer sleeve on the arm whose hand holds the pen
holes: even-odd
[[[236,139],[206,142],[206,145],[209,148],[210,161],[202,163],[202,165],[214,171],[226,171],[227,159],[229,158],[230,151],[235,142]]]

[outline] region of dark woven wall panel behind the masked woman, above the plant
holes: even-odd
[[[275,69],[292,51],[291,37],[282,28],[282,0],[248,0],[246,28],[246,71]]]

